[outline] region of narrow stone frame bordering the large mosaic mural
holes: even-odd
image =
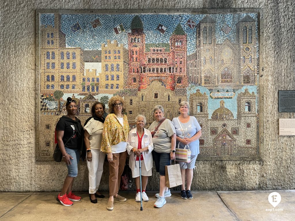
[[[41,131],[40,131],[40,15],[41,14],[226,14],[226,13],[257,13],[258,14],[258,44],[259,44],[259,81],[258,93],[258,153],[257,156],[198,156],[197,160],[247,160],[262,161],[264,146],[264,28],[263,9],[99,9],[99,10],[36,10],[36,77],[35,77],[35,159],[36,161],[52,161],[52,156],[41,156]],[[53,151],[52,151],[53,152]]]

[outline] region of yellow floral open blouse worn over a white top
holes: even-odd
[[[106,116],[102,132],[101,152],[110,153],[112,152],[112,145],[119,144],[122,141],[128,141],[129,124],[126,115],[123,115],[123,124],[124,127],[122,127],[114,113]]]

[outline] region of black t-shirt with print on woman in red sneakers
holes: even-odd
[[[67,142],[70,136],[73,135],[75,125],[72,122],[65,121],[63,120],[63,118],[60,118],[60,120],[56,124],[55,129],[56,131],[64,131],[63,143],[65,144],[65,142]],[[78,128],[76,128],[76,130],[77,129]],[[77,135],[75,133],[65,146],[70,149],[80,149],[81,147],[78,146],[78,144],[81,144],[81,139],[77,138]]]

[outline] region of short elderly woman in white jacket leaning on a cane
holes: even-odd
[[[132,177],[135,178],[136,196],[135,201],[140,202],[140,177],[139,157],[141,160],[142,200],[148,201],[145,188],[148,184],[148,177],[152,176],[154,149],[152,134],[145,129],[146,119],[142,115],[135,118],[136,128],[129,132],[127,151],[129,156],[129,167],[132,170]]]

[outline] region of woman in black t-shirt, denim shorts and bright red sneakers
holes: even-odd
[[[68,97],[65,105],[68,114],[62,116],[56,124],[56,140],[63,154],[63,160],[68,167],[68,176],[63,183],[63,189],[56,197],[64,206],[71,206],[71,201],[79,201],[78,197],[72,193],[74,178],[78,175],[78,161],[80,159],[81,144],[83,141],[83,127],[81,121],[75,117],[77,104],[75,100]]]

